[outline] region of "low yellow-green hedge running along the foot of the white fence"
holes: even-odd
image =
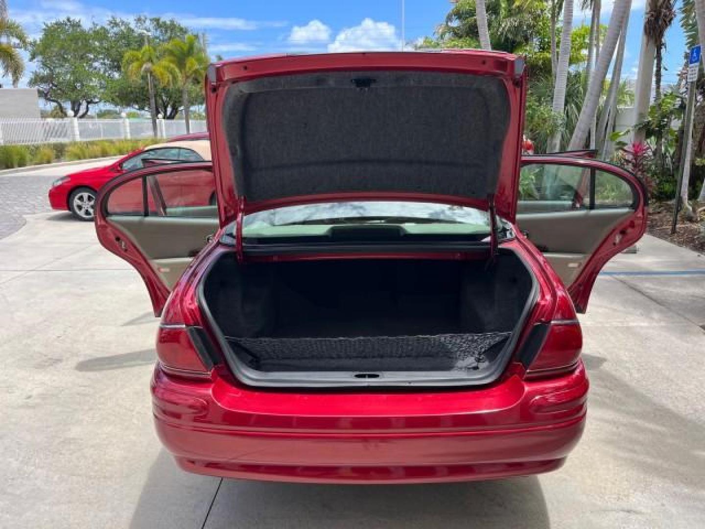
[[[0,145],[0,169],[51,164],[63,160],[83,160],[124,156],[128,152],[160,140],[95,140],[91,142],[44,143],[42,145]]]

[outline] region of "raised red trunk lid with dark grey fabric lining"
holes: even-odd
[[[523,59],[489,51],[270,56],[209,68],[221,224],[309,202],[424,200],[512,221]]]

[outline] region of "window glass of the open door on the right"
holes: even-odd
[[[589,167],[527,164],[519,181],[519,212],[632,207],[635,193],[618,176]]]

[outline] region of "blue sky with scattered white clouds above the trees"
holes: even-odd
[[[603,23],[608,23],[613,0],[603,0]],[[623,74],[634,77],[645,0],[632,0],[630,28]],[[173,17],[197,32],[206,32],[212,54],[225,57],[269,54],[283,51],[350,51],[353,49],[398,49],[402,39],[401,0],[231,1],[200,0],[10,0],[11,17],[32,36],[42,24],[73,16],[101,22],[108,16],[137,14]],[[116,7],[119,6],[119,7]],[[576,10],[578,9],[577,3]],[[431,35],[450,8],[448,0],[406,0],[405,40]],[[575,24],[589,21],[576,11]],[[664,82],[675,80],[685,51],[678,21],[667,35]],[[31,69],[31,65],[30,65]]]

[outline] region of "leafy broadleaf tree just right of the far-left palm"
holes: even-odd
[[[68,102],[73,115],[82,118],[105,90],[101,59],[94,28],[84,28],[75,18],[55,20],[45,24],[42,36],[30,44],[36,70],[28,84],[56,104],[62,116]]]

